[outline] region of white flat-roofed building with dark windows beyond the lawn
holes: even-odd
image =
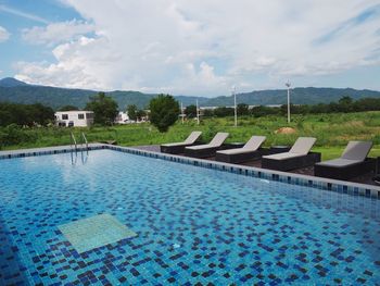
[[[88,127],[93,124],[93,111],[56,111],[54,117],[58,126]]]

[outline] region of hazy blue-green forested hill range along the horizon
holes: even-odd
[[[15,78],[7,77],[0,80],[0,102],[36,103],[58,109],[63,105],[76,105],[84,108],[91,96],[98,91],[86,89],[69,89],[49,86],[28,85]],[[145,108],[149,101],[155,97],[154,94],[142,94],[139,91],[111,91],[106,92],[114,98],[121,110],[128,104],[136,104],[138,108]],[[317,88],[297,87],[291,90],[291,102],[294,104],[315,104],[338,101],[349,96],[357,100],[366,97],[380,98],[380,91],[356,90],[352,88]],[[183,107],[195,104],[197,99],[200,107],[225,107],[233,104],[233,97],[188,97],[176,96]],[[286,89],[257,90],[237,95],[238,103],[250,105],[284,104],[287,102]]]

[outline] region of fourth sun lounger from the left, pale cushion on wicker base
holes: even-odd
[[[289,152],[263,156],[262,167],[290,171],[314,165],[316,162],[320,162],[320,153],[311,152],[316,140],[313,137],[300,137]]]

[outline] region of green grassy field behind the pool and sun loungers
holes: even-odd
[[[280,127],[293,127],[291,135],[276,134]],[[198,126],[190,120],[185,124],[177,122],[167,133],[159,133],[152,125],[130,124],[112,127],[91,128],[26,128],[23,129],[25,140],[22,144],[7,146],[3,149],[20,149],[68,145],[69,132],[80,138],[84,132],[88,141],[116,140],[122,146],[157,145],[183,140],[190,132],[202,130],[203,141],[208,141],[217,132],[228,132],[227,142],[246,141],[252,135],[265,135],[265,146],[292,145],[299,136],[317,138],[315,151],[322,153],[322,160],[341,154],[349,140],[372,140],[375,146],[371,156],[380,156],[380,112],[332,113],[317,115],[294,115],[287,123],[286,116],[264,116],[239,119],[239,126],[233,127],[233,117],[204,119]]]

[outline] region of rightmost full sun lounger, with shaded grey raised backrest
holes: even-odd
[[[371,148],[371,141],[350,141],[341,158],[315,164],[314,175],[349,179],[375,171],[376,160],[367,158]]]

